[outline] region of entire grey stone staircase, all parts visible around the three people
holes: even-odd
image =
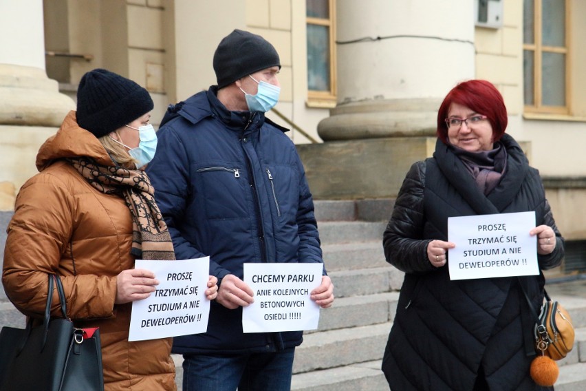
[[[402,273],[384,261],[382,232],[392,200],[316,201],[325,266],[336,300],[321,310],[318,330],[305,332],[296,350],[292,391],[388,391],[380,370]],[[0,212],[0,250],[11,212]],[[1,262],[0,262],[1,263]],[[586,279],[548,283],[547,292],[572,315],[574,350],[558,361],[556,391],[586,390]],[[24,326],[24,317],[0,289],[0,326]],[[181,391],[182,357],[177,364]]]

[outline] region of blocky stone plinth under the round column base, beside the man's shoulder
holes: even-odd
[[[405,174],[435,150],[433,137],[389,137],[297,145],[316,200],[395,198]]]

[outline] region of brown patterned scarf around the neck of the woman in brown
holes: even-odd
[[[132,255],[142,260],[175,260],[171,235],[144,171],[102,166],[90,158],[67,161],[98,191],[124,198],[132,216]]]

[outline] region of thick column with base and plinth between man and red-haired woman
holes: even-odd
[[[433,153],[437,109],[475,75],[469,0],[337,3],[338,105],[298,146],[316,198],[394,197]]]

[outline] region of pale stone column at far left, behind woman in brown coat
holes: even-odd
[[[0,210],[8,210],[75,103],[45,72],[42,0],[0,1],[0,36]]]

